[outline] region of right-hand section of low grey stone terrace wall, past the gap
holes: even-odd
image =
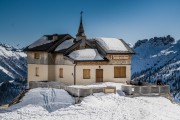
[[[169,85],[163,85],[163,86],[157,86],[157,85],[149,85],[149,86],[122,85],[121,89],[127,95],[161,95],[161,94],[169,94],[170,93]]]

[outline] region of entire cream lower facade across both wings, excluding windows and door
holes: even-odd
[[[126,66],[126,78],[114,78],[114,67]],[[35,69],[39,68],[39,76]],[[39,65],[28,64],[28,81],[59,81],[67,85],[74,84],[74,68],[76,69],[75,82],[77,85],[96,83],[96,69],[103,69],[103,82],[126,82],[130,80],[130,65]],[[59,77],[59,69],[63,68],[63,78]],[[90,79],[83,79],[83,69],[90,69]]]

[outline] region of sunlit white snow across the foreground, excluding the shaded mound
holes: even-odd
[[[48,112],[38,105],[27,105],[0,114],[1,120],[179,120],[180,106],[163,97],[129,98],[98,93],[80,104]]]

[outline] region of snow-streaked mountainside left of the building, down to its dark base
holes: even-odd
[[[0,105],[11,102],[25,89],[26,54],[21,49],[0,43]]]

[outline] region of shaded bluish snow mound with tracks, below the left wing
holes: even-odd
[[[22,99],[22,101],[7,111],[20,109],[26,105],[42,106],[49,112],[75,104],[75,99],[65,90],[53,88],[35,88],[31,89]]]

